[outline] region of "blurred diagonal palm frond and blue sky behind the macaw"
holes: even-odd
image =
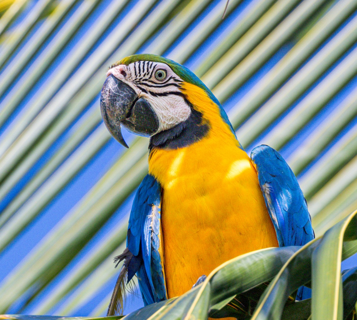
[[[124,149],[99,111],[130,54],[184,64],[247,152],[280,151],[316,234],[357,208],[357,1],[230,0],[222,19],[225,4],[0,1],[0,313],[105,313],[147,173],[147,139],[124,132]]]

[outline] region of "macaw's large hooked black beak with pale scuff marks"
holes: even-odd
[[[100,111],[111,135],[129,148],[121,134],[120,123],[130,131],[147,136],[159,129],[159,118],[150,103],[139,98],[126,83],[109,75],[100,92]]]

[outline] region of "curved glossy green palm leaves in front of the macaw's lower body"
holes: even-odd
[[[305,307],[311,305],[314,319],[342,319],[340,261],[357,253],[356,222],[357,210],[303,247],[267,248],[238,256],[220,265],[202,284],[182,296],[149,305],[125,316],[125,319],[205,319],[217,315],[218,310],[221,310],[219,317],[250,318],[253,310],[240,299],[270,280],[250,319],[281,319],[285,305],[293,316],[293,306],[300,310],[301,303],[292,300],[286,304],[286,301],[294,291],[307,283],[312,285],[312,299],[303,304]],[[348,290],[348,284],[356,282],[352,278],[356,268],[344,274],[345,308],[349,305],[345,313],[349,314],[357,300],[356,293]],[[241,303],[241,308],[234,313],[222,313],[225,305],[232,306],[234,298]],[[26,320],[26,316],[8,317]]]

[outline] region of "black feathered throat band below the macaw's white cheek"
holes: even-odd
[[[149,150],[154,147],[162,149],[187,147],[205,137],[209,129],[209,123],[202,123],[202,113],[191,107],[191,115],[187,120],[150,138]]]

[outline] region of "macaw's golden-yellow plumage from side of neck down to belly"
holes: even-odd
[[[197,86],[185,83],[182,91],[210,130],[187,147],[153,148],[149,156],[149,172],[162,186],[169,297],[189,290],[226,260],[278,246],[255,168],[218,106]]]

